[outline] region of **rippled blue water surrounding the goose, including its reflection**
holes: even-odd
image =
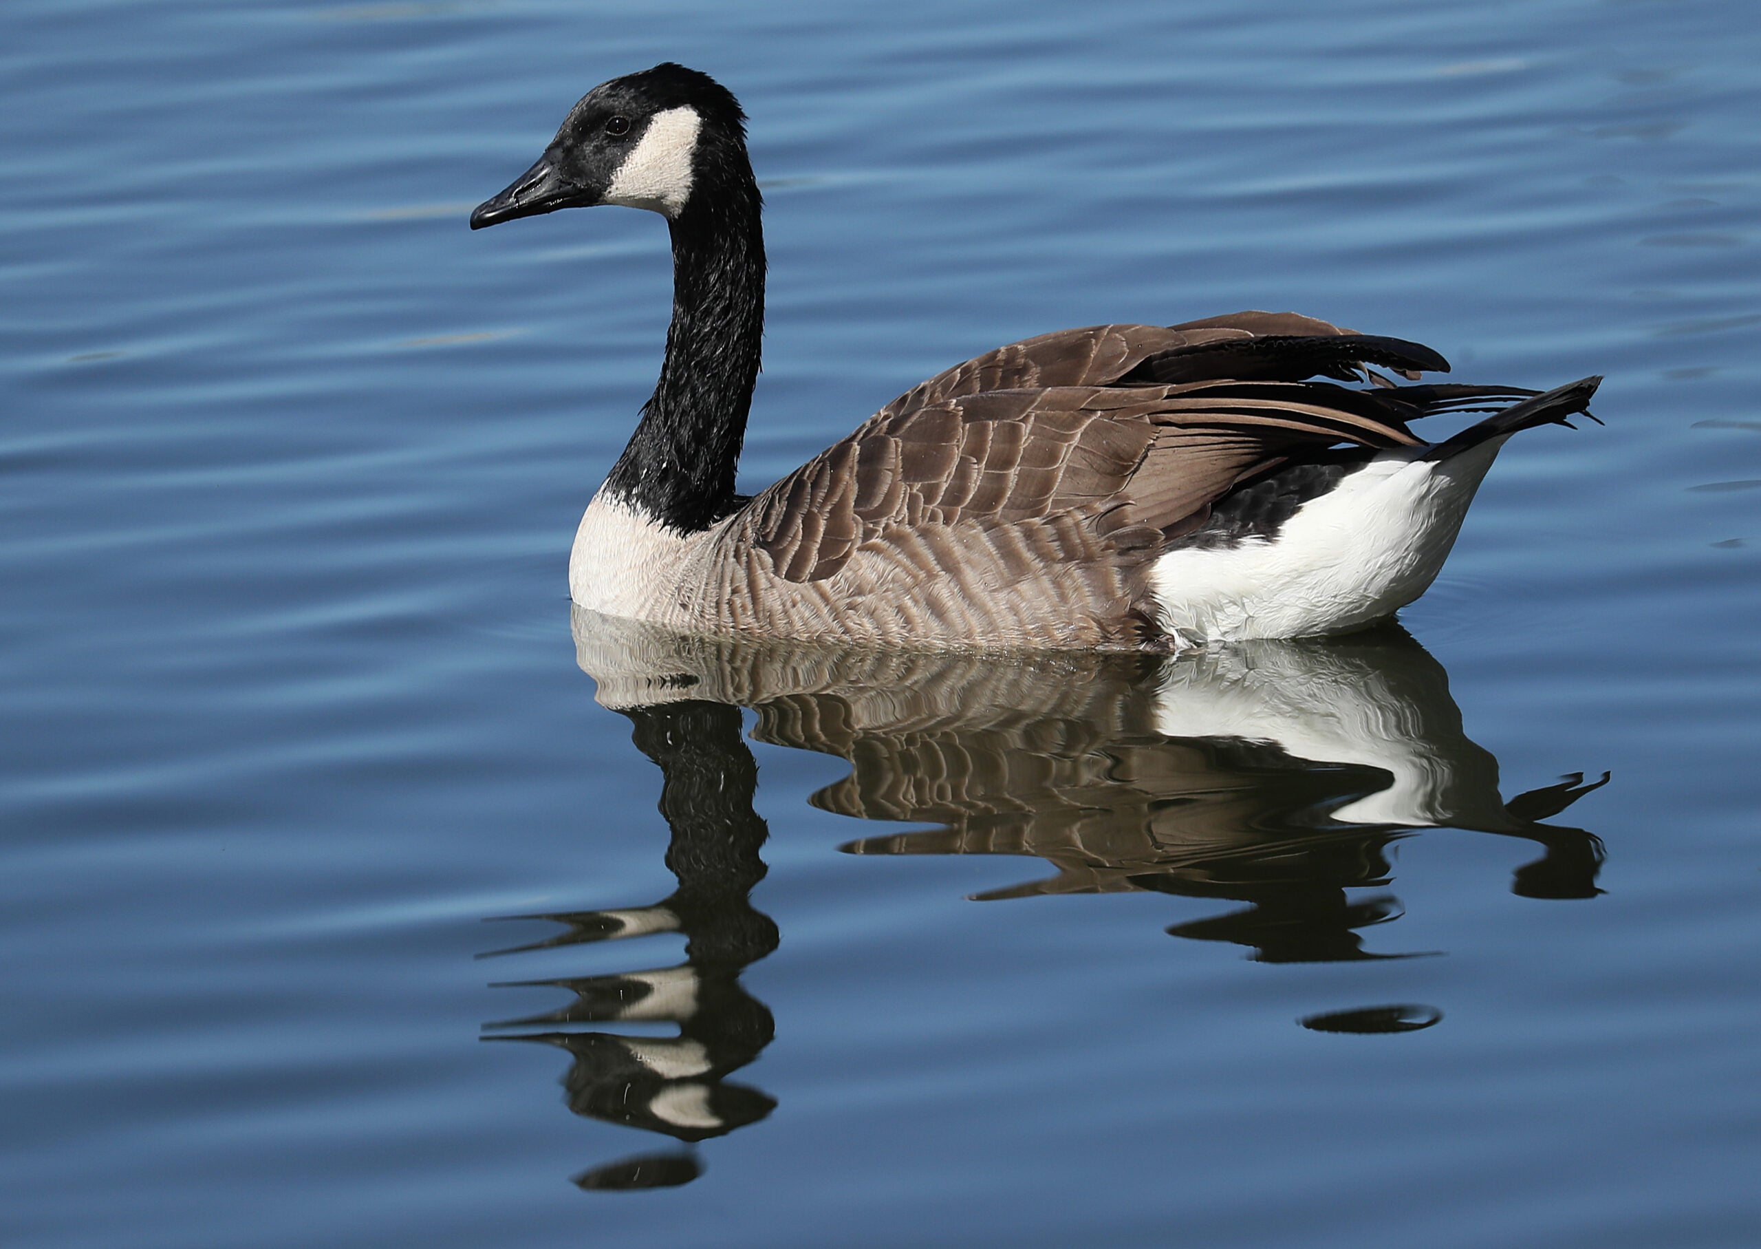
[[[1756,1244],[1750,7],[0,32],[5,1244]],[[993,344],[1243,307],[1604,372],[1608,426],[1511,444],[1409,636],[571,622],[664,231],[463,218],[662,58],[770,201],[747,484]]]

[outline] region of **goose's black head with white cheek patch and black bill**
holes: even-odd
[[[726,86],[683,65],[613,78],[569,109],[530,169],[477,204],[470,227],[595,204],[678,220],[706,183],[750,183],[745,120]]]

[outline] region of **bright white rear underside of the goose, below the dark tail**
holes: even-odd
[[[1187,643],[1312,638],[1404,608],[1437,578],[1502,444],[1444,462],[1389,453],[1310,499],[1270,543],[1162,555],[1150,573],[1162,627]]]

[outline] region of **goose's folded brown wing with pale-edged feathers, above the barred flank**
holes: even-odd
[[[1333,389],[1060,386],[882,412],[754,499],[743,528],[789,581],[833,576],[865,543],[926,525],[1071,513],[1104,548],[1136,550],[1141,534],[1116,536],[1176,528],[1296,449],[1418,442],[1398,421],[1330,405]]]

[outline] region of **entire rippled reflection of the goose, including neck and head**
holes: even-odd
[[[549,914],[542,946],[683,932],[680,967],[525,981],[576,997],[511,1020],[519,1039],[569,1050],[571,1106],[680,1142],[763,1119],[768,1094],[727,1083],[771,1039],[770,1011],[738,983],[777,948],[747,900],[764,876],[755,768],[740,738],[833,754],[829,812],[933,824],[849,842],[854,854],[1014,854],[1053,872],[981,900],[1159,891],[1242,904],[1168,932],[1245,946],[1263,962],[1404,957],[1361,932],[1400,916],[1389,846],[1426,828],[1532,842],[1513,891],[1588,898],[1603,846],[1543,823],[1590,789],[1573,773],[1504,800],[1499,765],[1462,731],[1448,676],[1409,634],[1254,641],[1183,655],[902,654],[690,638],[574,610],[581,668],[634,724],[664,777],[667,867],[678,890],[650,907]],[[1405,951],[1423,953],[1423,951]],[[1303,1020],[1331,1032],[1402,1032],[1440,1013],[1368,1006]],[[574,1031],[671,1022],[676,1039]],[[532,1031],[542,1029],[542,1031]],[[689,1154],[629,1159],[588,1187],[692,1179]]]

